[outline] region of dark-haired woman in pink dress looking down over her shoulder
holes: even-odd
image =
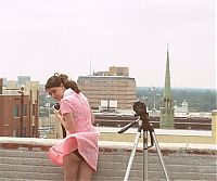
[[[92,126],[88,100],[75,81],[54,74],[46,91],[60,103],[55,116],[66,130],[66,138],[49,150],[51,160],[64,168],[64,181],[90,181],[97,170],[99,132]]]

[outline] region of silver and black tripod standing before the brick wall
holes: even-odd
[[[132,165],[133,157],[135,157],[135,154],[136,154],[136,151],[137,151],[139,138],[141,137],[142,131],[143,131],[143,180],[148,181],[148,150],[155,144],[157,155],[158,155],[158,158],[161,160],[161,165],[162,165],[165,178],[166,178],[167,181],[169,181],[169,178],[168,178],[168,174],[167,174],[167,171],[166,171],[166,167],[165,167],[164,160],[162,158],[161,150],[159,150],[159,146],[158,146],[155,133],[154,133],[154,128],[149,122],[149,119],[148,119],[146,106],[145,106],[144,103],[141,103],[140,101],[138,101],[138,102],[135,103],[133,109],[137,113],[136,116],[140,116],[140,118],[128,124],[128,125],[126,125],[123,129],[120,129],[118,131],[118,133],[123,133],[126,130],[128,130],[132,125],[138,124],[138,132],[137,132],[137,135],[136,135],[136,139],[135,139],[133,147],[132,147],[132,151],[131,151],[131,154],[130,154],[130,158],[129,158],[129,163],[128,163],[128,166],[127,166],[127,170],[126,170],[126,173],[125,173],[124,181],[128,181],[131,165]],[[148,146],[148,132],[150,133],[151,146]]]

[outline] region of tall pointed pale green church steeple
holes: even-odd
[[[170,88],[170,70],[169,70],[169,50],[167,46],[166,57],[166,75],[165,75],[165,88],[163,96],[163,107],[161,108],[161,128],[173,129],[174,128],[174,107]]]

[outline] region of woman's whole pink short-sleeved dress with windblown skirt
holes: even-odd
[[[63,166],[63,157],[76,150],[84,159],[97,170],[99,132],[91,122],[91,109],[85,95],[67,89],[60,102],[61,114],[73,113],[76,131],[69,133],[60,143],[49,150],[51,160]]]

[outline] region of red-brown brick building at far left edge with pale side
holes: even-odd
[[[0,79],[0,137],[38,137],[38,83],[5,88]]]

